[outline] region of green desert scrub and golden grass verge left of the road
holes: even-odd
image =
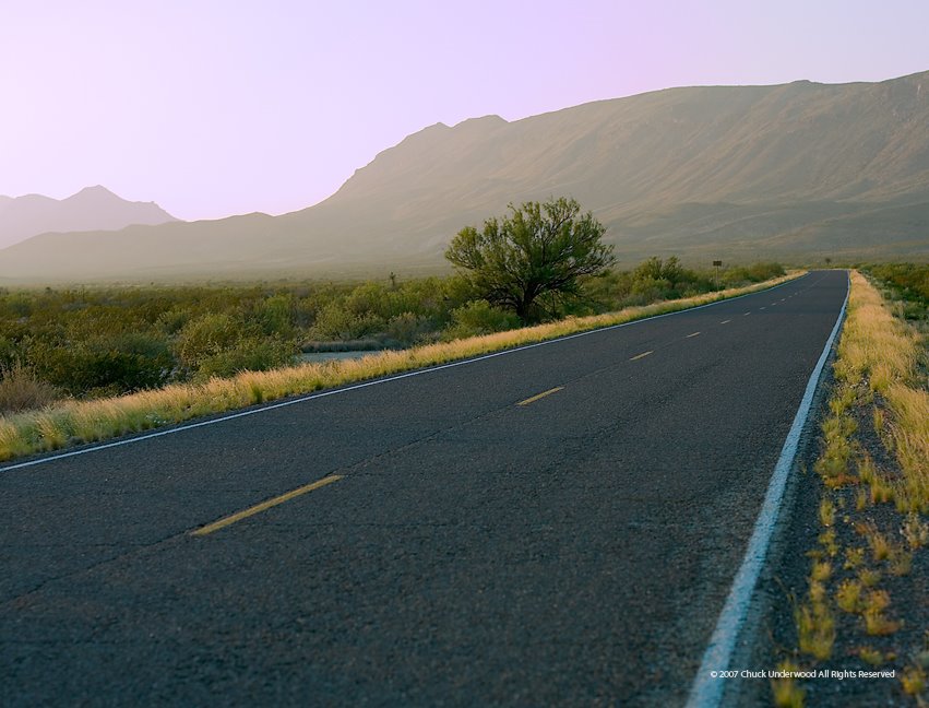
[[[534,327],[457,276],[0,292],[0,460],[626,322],[783,278],[771,263],[716,282],[676,258],[653,258],[583,280],[576,297]],[[371,354],[300,363],[301,352],[338,349]]]

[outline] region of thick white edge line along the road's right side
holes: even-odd
[[[719,706],[723,699],[726,682],[723,678],[714,678],[711,672],[727,671],[733,659],[736,639],[742,624],[745,624],[758,578],[764,566],[771,536],[774,533],[781,503],[784,498],[784,491],[787,486],[787,476],[794,467],[794,458],[797,456],[800,434],[803,432],[803,426],[809,417],[813,394],[819,386],[823,367],[845,319],[845,309],[848,306],[848,297],[851,295],[850,274],[848,274],[847,287],[845,302],[838,311],[835,326],[832,328],[832,333],[829,335],[813,373],[810,375],[810,380],[807,381],[807,390],[803,392],[800,406],[794,416],[794,424],[790,426],[790,432],[787,433],[787,439],[784,440],[784,447],[781,449],[781,457],[774,467],[774,473],[771,475],[767,493],[764,495],[764,504],[755,520],[754,531],[749,540],[748,548],[746,548],[742,565],[736,574],[735,580],[733,580],[729,597],[726,598],[726,604],[723,606],[723,612],[719,613],[716,628],[713,630],[713,636],[703,653],[703,661],[700,663],[700,669],[698,669],[693,685],[690,688],[687,708],[715,708]]]

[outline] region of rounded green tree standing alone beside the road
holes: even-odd
[[[581,214],[573,199],[525,202],[511,214],[466,226],[452,239],[448,258],[480,297],[513,310],[522,320],[536,319],[543,296],[576,296],[584,275],[599,275],[616,262],[612,246],[603,243],[606,228]]]

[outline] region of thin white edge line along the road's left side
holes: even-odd
[[[13,470],[21,470],[23,468],[33,467],[36,464],[44,464],[46,462],[53,462],[55,460],[62,460],[69,457],[76,457],[79,455],[86,455],[87,452],[96,452],[97,450],[107,450],[109,448],[121,447],[123,445],[131,445],[132,442],[141,442],[142,440],[151,440],[152,438],[163,437],[165,435],[174,435],[175,433],[181,433],[183,430],[191,430],[193,428],[204,427],[206,425],[215,425],[216,423],[224,423],[225,421],[233,421],[235,418],[245,417],[247,415],[254,415],[255,413],[263,413],[265,411],[273,411],[275,409],[285,408],[287,405],[294,405],[295,403],[305,403],[306,401],[312,401],[319,398],[325,398],[326,396],[335,396],[336,393],[347,393],[348,391],[355,391],[357,389],[367,388],[368,386],[377,386],[379,384],[386,384],[388,381],[396,381],[400,379],[408,378],[410,376],[419,376],[420,374],[429,374],[431,371],[441,371],[442,369],[452,368],[454,366],[464,366],[465,364],[474,364],[475,362],[483,362],[484,359],[493,358],[495,356],[503,356],[504,354],[513,354],[515,352],[522,352],[524,350],[535,349],[536,346],[545,346],[548,344],[555,344],[556,342],[564,342],[567,340],[575,339],[577,337],[586,337],[587,334],[594,334],[595,332],[606,332],[608,330],[619,329],[621,327],[629,327],[631,324],[639,324],[640,322],[647,322],[648,320],[660,319],[662,317],[670,317],[672,315],[681,315],[683,312],[692,312],[694,310],[703,309],[704,307],[713,307],[714,305],[720,305],[723,303],[731,303],[733,300],[741,299],[742,297],[748,297],[750,295],[758,295],[760,293],[770,293],[773,290],[778,287],[784,287],[790,283],[797,283],[805,278],[809,278],[810,273],[807,272],[799,278],[794,278],[788,281],[784,281],[783,283],[778,283],[777,285],[773,285],[772,287],[766,287],[764,290],[754,291],[752,293],[746,293],[745,295],[736,295],[735,297],[726,297],[723,299],[715,300],[713,303],[706,303],[705,305],[698,305],[696,307],[687,307],[684,309],[675,310],[672,312],[664,312],[662,315],[652,315],[651,317],[643,317],[642,319],[632,320],[630,322],[622,322],[620,324],[610,324],[608,327],[598,327],[595,329],[585,330],[583,332],[576,332],[574,334],[565,334],[564,337],[559,337],[557,339],[545,340],[543,342],[535,342],[533,344],[524,344],[522,346],[516,346],[514,349],[502,350],[500,352],[491,352],[490,354],[483,354],[481,356],[476,356],[474,358],[461,359],[458,362],[450,362],[449,364],[440,364],[438,366],[430,366],[428,368],[416,369],[415,371],[406,371],[405,374],[397,374],[395,376],[390,376],[388,378],[378,378],[370,381],[364,381],[362,384],[354,384],[352,386],[346,386],[344,388],[335,388],[330,389],[327,391],[320,391],[319,393],[311,393],[309,396],[301,396],[300,398],[290,399],[288,401],[282,401],[279,403],[271,403],[269,405],[262,405],[261,408],[253,408],[247,411],[240,411],[238,413],[231,413],[229,415],[223,415],[221,417],[210,418],[209,421],[201,421],[200,423],[186,423],[183,425],[179,425],[177,427],[168,428],[166,430],[157,430],[155,433],[146,433],[145,435],[136,435],[134,437],[126,438],[122,440],[115,440],[114,442],[104,442],[102,445],[95,445],[93,447],[81,448],[80,450],[71,450],[70,452],[59,452],[57,455],[49,455],[48,457],[37,458],[35,460],[28,460],[27,462],[19,462],[16,464],[10,464],[8,467],[0,467],[0,473],[3,472],[12,472]]]

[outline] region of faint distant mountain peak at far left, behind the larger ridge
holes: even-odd
[[[116,231],[177,221],[154,202],[130,202],[96,186],[68,199],[0,196],[0,248],[47,232]]]

